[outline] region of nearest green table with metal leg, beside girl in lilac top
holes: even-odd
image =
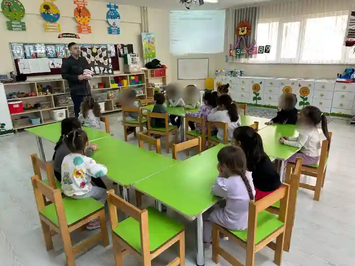
[[[200,266],[205,264],[202,213],[217,201],[211,188],[218,176],[217,153],[222,147],[223,144],[214,146],[133,185],[185,217],[197,220],[197,265]]]

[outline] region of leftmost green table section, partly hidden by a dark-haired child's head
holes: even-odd
[[[104,131],[88,127],[83,127],[83,130],[87,133],[89,141],[93,141],[110,135]],[[42,138],[49,140],[50,142],[56,143],[61,136],[61,122],[39,126],[35,128],[29,128],[27,129],[27,131],[36,135],[39,156],[42,160],[45,161]]]

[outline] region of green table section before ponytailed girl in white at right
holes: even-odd
[[[286,146],[279,142],[280,137],[289,136],[296,137],[298,136],[298,132],[296,130],[295,125],[281,125],[274,124],[268,126],[258,132],[263,140],[263,146],[265,153],[274,157],[275,159],[279,159],[281,161],[280,166],[280,178],[283,180],[284,175],[284,162],[288,158],[290,158],[293,154],[298,152],[300,148],[294,148],[290,146]]]

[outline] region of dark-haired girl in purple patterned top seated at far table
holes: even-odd
[[[204,105],[202,105],[197,113],[186,112],[186,115],[197,118],[204,118],[206,120],[206,133],[207,133],[207,116],[211,113],[212,109],[217,107],[217,95],[210,91],[204,93],[202,100]],[[194,122],[189,121],[188,123],[191,130],[197,130],[201,133],[201,125],[195,125]]]

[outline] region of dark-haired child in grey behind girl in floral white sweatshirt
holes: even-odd
[[[54,175],[58,181],[62,181],[62,162],[64,157],[71,153],[64,139],[68,137],[68,134],[74,130],[81,130],[82,126],[80,121],[76,117],[68,117],[62,120],[61,123],[62,133],[54,147],[53,154],[53,169]],[[85,149],[85,156],[90,157],[97,149],[96,144],[91,144]],[[93,183],[101,188],[106,189],[106,185],[101,178],[93,179]]]

